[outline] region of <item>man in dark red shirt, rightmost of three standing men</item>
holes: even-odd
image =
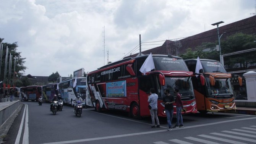
[[[183,119],[181,115],[181,109],[183,109],[183,104],[181,101],[181,95],[178,93],[179,89],[177,87],[174,89],[174,92],[177,95],[175,100],[177,123],[173,128],[183,128]]]

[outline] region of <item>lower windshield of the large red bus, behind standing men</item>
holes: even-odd
[[[180,89],[181,97],[194,96],[193,86],[191,84],[191,77],[165,77],[165,86],[162,86],[162,95],[164,97],[164,89],[170,89],[170,94],[173,94],[175,87]]]

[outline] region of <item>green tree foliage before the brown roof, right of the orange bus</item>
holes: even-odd
[[[205,58],[220,61],[220,54],[215,50],[217,44],[217,41],[216,43],[203,42],[201,45],[196,47],[194,51],[192,51],[191,48],[188,48],[186,53],[180,55],[180,57],[182,57],[184,60],[199,57],[200,59]],[[250,34],[236,33],[232,36],[227,37],[227,39],[221,40],[220,45],[222,55],[225,53],[253,49],[256,48],[256,36]],[[244,54],[224,57],[225,68],[229,69],[240,67],[242,70],[246,70],[248,66],[255,65],[255,55],[256,52],[253,51]]]

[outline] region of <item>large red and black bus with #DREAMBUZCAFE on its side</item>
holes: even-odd
[[[169,88],[173,94],[174,88],[178,87],[186,113],[196,113],[191,82],[193,72],[188,71],[185,61],[170,55],[153,55],[155,70],[143,75],[139,69],[147,57],[126,58],[87,73],[86,104],[95,107],[98,112],[114,109],[129,112],[133,118],[150,116],[147,99],[149,89],[155,88],[158,116],[166,116],[162,101],[164,89]]]

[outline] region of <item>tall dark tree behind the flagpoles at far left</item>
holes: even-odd
[[[3,42],[4,39],[0,38],[0,42]],[[3,53],[2,53],[2,67],[1,67],[1,76],[0,79],[3,80],[4,78],[4,71],[5,71],[5,56],[6,56],[6,47],[8,46],[8,65],[9,65],[9,58],[10,58],[10,53],[13,56],[12,63],[11,63],[11,77],[13,77],[14,73],[14,58],[16,57],[16,63],[15,63],[15,71],[19,76],[22,76],[27,69],[26,66],[24,66],[24,63],[26,62],[26,58],[21,57],[21,52],[17,52],[17,47],[18,47],[18,42],[14,42],[12,44],[9,43],[2,43],[3,44]],[[8,68],[7,68],[8,69]],[[8,73],[8,70],[7,70]],[[13,79],[13,78],[11,78]]]

